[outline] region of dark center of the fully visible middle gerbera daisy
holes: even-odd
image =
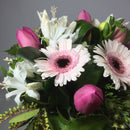
[[[68,58],[61,58],[56,61],[58,67],[65,68],[70,64],[70,60]]]

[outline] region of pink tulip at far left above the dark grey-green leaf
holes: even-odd
[[[17,30],[17,41],[20,47],[30,46],[37,49],[41,48],[41,43],[37,35],[28,27],[23,27],[23,29]]]

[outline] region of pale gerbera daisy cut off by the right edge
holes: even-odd
[[[104,77],[110,76],[119,89],[121,84],[126,89],[130,85],[130,50],[117,41],[105,41],[103,47],[98,45],[94,50],[94,62],[104,67]]]

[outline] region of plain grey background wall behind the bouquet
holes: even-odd
[[[76,20],[82,9],[101,22],[111,13],[116,18],[122,17],[130,21],[130,0],[0,0],[0,65],[7,68],[3,61],[7,56],[4,50],[17,43],[16,30],[22,26],[32,29],[39,27],[40,21],[36,11],[46,9],[50,13],[52,5],[58,7],[57,17],[67,15],[69,22]],[[130,28],[130,25],[128,27]],[[2,80],[3,75],[0,72],[0,82]],[[0,90],[0,113],[16,106],[13,99],[5,100],[5,93]],[[8,122],[3,123],[0,130],[8,130],[7,126]]]

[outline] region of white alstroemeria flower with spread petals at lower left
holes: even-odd
[[[26,83],[25,79],[27,77],[27,71],[25,71],[24,68],[21,68],[21,66],[17,65],[13,71],[14,77],[5,77],[3,84],[5,84],[5,87],[8,91],[8,88],[14,88],[15,90],[9,92],[6,94],[6,98],[10,98],[11,96],[16,95],[15,102],[20,105],[22,101],[20,101],[20,96],[23,93],[28,94],[28,96],[33,97],[37,100],[40,99],[40,95],[37,92],[37,90],[42,87],[42,84],[40,82],[34,82],[34,83]],[[37,87],[36,87],[37,86]]]

